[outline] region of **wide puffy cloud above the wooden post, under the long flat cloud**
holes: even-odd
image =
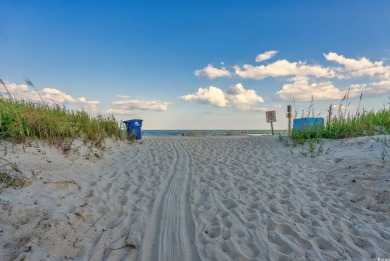
[[[281,99],[310,101],[313,97],[314,100],[333,100],[341,99],[345,95],[345,91],[340,91],[330,81],[309,83],[309,78],[305,76],[297,76],[290,81],[291,83],[284,84],[282,90],[277,92]]]

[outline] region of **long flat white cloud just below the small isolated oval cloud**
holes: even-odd
[[[253,66],[244,64],[242,68],[235,66],[235,73],[245,79],[261,80],[266,77],[281,76],[316,76],[316,77],[334,77],[335,71],[331,68],[325,68],[320,65],[307,65],[305,62],[289,62],[279,60],[269,65]]]

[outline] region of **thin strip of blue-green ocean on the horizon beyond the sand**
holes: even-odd
[[[275,130],[275,134],[285,134],[286,130]],[[156,136],[238,136],[270,135],[271,130],[142,130],[143,137]]]

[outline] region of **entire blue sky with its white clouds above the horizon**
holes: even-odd
[[[287,128],[390,95],[390,1],[3,1],[0,78],[16,97],[144,129]],[[5,90],[0,86],[0,92]],[[337,108],[335,108],[337,109]]]

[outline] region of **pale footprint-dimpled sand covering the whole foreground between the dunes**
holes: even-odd
[[[0,260],[390,258],[384,143],[324,141],[315,157],[285,145],[147,137],[64,155],[3,143],[28,182],[0,192]]]

